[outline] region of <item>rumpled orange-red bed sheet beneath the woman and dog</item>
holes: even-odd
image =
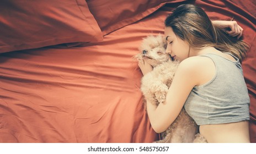
[[[142,37],[163,33],[167,14],[183,3],[199,5],[211,19],[234,18],[243,27],[250,45],[242,63],[251,101],[250,139],[256,142],[255,9],[237,2],[167,4],[100,42],[0,54],[0,142],[158,140],[143,108],[142,74],[132,56]]]

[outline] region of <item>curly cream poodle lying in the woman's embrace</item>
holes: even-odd
[[[144,60],[153,66],[153,71],[141,80],[141,91],[145,100],[156,106],[166,100],[167,91],[179,65],[178,61],[172,61],[169,54],[166,54],[166,45],[163,35],[150,35],[143,38],[139,48],[141,53],[135,56],[138,61]],[[204,136],[196,133],[198,126],[183,108],[169,128],[161,133],[162,140],[155,142],[206,142]]]

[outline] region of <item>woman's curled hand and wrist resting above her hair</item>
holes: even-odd
[[[243,35],[243,29],[237,24],[237,21],[223,21],[223,20],[214,20],[212,24],[219,27],[220,29],[230,28],[231,30],[226,30],[227,34],[239,39]]]

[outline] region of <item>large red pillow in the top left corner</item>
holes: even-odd
[[[103,39],[84,0],[1,0],[0,53]]]

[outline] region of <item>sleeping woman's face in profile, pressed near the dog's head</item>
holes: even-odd
[[[166,53],[180,62],[189,57],[189,44],[177,37],[172,27],[164,28],[164,36],[167,40]]]

